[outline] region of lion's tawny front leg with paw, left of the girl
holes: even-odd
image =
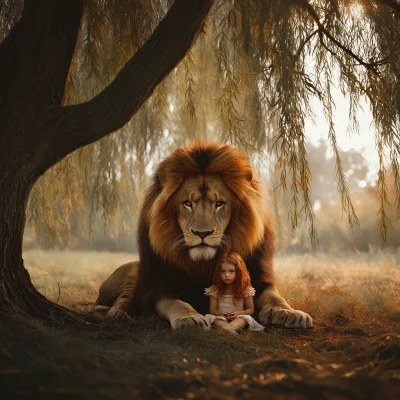
[[[170,322],[172,329],[179,329],[185,326],[198,326],[205,330],[210,329],[210,323],[207,318],[184,301],[163,298],[156,303],[156,310],[159,315]]]

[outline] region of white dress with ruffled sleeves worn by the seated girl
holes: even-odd
[[[233,299],[232,294],[223,294],[220,297],[218,297],[218,289],[215,286],[210,286],[209,288],[206,288],[204,290],[204,294],[206,296],[213,296],[217,298],[217,310],[218,311],[244,311],[245,305],[244,305],[244,299],[249,296],[254,296],[256,291],[252,286],[249,286],[243,296],[243,299],[235,300]],[[223,321],[230,322],[228,321],[227,318],[223,316],[216,316],[212,314],[206,314],[206,318],[210,321],[210,324],[212,324],[216,319],[222,319]],[[264,330],[264,327],[259,324],[251,315],[238,315],[236,318],[243,318],[247,323],[247,329],[249,331],[255,331],[255,332],[261,332]]]

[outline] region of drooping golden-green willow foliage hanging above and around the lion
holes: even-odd
[[[88,100],[106,87],[170,4],[86,1],[65,103]],[[60,237],[68,235],[70,216],[81,209],[87,210],[89,225],[100,214],[118,220],[118,229],[131,227],[146,166],[150,171],[171,149],[194,138],[218,139],[239,146],[279,174],[279,187],[291,193],[292,228],[304,216],[315,242],[304,121],[312,117],[310,101],[317,98],[329,121],[342,207],[350,226],[356,226],[332,118],[332,85],[338,75],[341,91],[350,98],[350,132],[357,131],[363,96],[372,110],[380,159],[377,211],[386,240],[388,166],[400,217],[399,8],[391,0],[217,0],[186,59],[132,121],[118,134],[71,154],[36,184],[30,220]],[[3,2],[2,38],[21,10],[22,0]]]

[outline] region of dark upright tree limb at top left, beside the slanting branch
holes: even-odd
[[[27,125],[61,105],[83,14],[84,0],[25,0],[21,19],[0,47],[3,131]]]

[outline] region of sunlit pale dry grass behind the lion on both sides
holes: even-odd
[[[100,284],[137,254],[28,250],[25,265],[52,301],[86,310]],[[400,314],[400,252],[277,257],[281,294],[314,318],[396,319]],[[59,290],[59,287],[60,290]]]

